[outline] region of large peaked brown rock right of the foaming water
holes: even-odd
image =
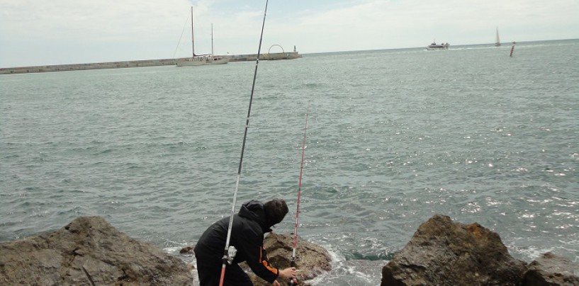
[[[498,234],[437,214],[383,267],[381,285],[515,286],[526,270]]]

